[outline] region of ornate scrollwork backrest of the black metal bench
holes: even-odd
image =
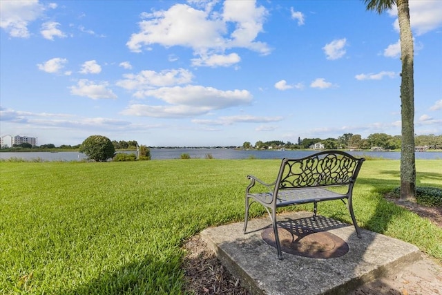
[[[353,184],[364,158],[343,151],[321,151],[300,159],[282,159],[275,189]]]

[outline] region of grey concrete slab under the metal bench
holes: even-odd
[[[309,258],[282,253],[262,239],[271,226],[270,218],[249,220],[247,234],[243,222],[202,231],[204,241],[215,251],[229,271],[240,278],[252,294],[347,294],[359,285],[396,272],[421,259],[419,249],[407,242],[363,230],[357,238],[353,225],[310,212],[284,213],[278,225],[308,226],[345,240],[347,254],[338,258]]]

